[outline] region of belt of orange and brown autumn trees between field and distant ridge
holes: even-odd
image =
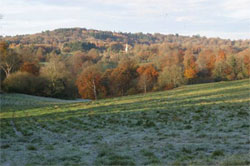
[[[143,34],[137,37],[149,40]],[[125,51],[119,41],[13,45],[5,39],[0,42],[1,88],[56,98],[100,99],[249,78],[248,41],[236,43],[217,47],[178,41],[138,43],[129,44]]]

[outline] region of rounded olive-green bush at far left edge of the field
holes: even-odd
[[[32,95],[43,95],[47,80],[34,76],[27,72],[16,72],[10,74],[3,82],[6,92],[25,93]]]

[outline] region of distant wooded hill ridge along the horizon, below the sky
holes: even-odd
[[[223,45],[231,47],[246,48],[250,45],[250,40],[225,40],[220,38],[206,38],[199,35],[181,36],[178,34],[163,35],[160,33],[144,34],[144,33],[123,33],[100,31],[86,28],[61,28],[53,31],[44,31],[32,35],[17,35],[1,37],[1,40],[6,40],[15,45],[47,45],[54,47],[62,47],[68,42],[90,42],[98,47],[108,45],[112,42],[121,44],[156,44],[156,43],[175,43],[180,45],[199,45],[220,47]]]

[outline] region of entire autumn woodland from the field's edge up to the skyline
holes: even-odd
[[[91,77],[98,78],[99,97],[105,98],[250,76],[250,40],[85,28],[56,29],[32,35],[7,36],[0,40],[3,40],[0,41],[0,51],[8,55],[1,54],[4,62],[1,63],[1,81],[10,74],[14,75],[13,80],[10,77],[10,82],[5,81],[3,89],[8,92],[60,98],[81,95],[82,98],[93,99],[97,96],[92,83],[81,84],[85,79],[85,82],[90,81]],[[11,57],[15,60],[9,60]],[[87,76],[92,71],[98,72]],[[32,84],[36,85],[33,89],[37,91],[30,91],[29,86],[24,90],[21,85],[30,84],[24,79],[27,76],[24,72],[36,74],[51,86],[47,87],[50,85],[47,83],[41,89],[37,77],[32,77],[37,79],[37,84]],[[63,80],[58,77],[55,81],[52,76],[56,73],[62,74]],[[16,80],[19,77],[26,84],[19,85],[17,90]],[[76,86],[77,80],[81,81]],[[82,88],[84,90],[80,90]]]

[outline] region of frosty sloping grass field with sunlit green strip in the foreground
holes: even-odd
[[[76,102],[1,94],[0,165],[250,165],[250,80]]]

